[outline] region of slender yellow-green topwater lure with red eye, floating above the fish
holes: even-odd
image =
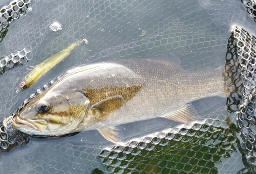
[[[20,82],[19,87],[22,89],[29,88],[38,79],[44,76],[44,74],[46,74],[50,69],[56,66],[60,61],[68,57],[71,54],[71,51],[82,43],[88,44],[88,40],[80,39],[69,45],[66,49],[63,49],[61,52],[51,56],[50,58],[38,64],[27,74],[27,76],[25,76],[23,81]]]

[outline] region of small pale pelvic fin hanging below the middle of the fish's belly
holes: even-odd
[[[119,137],[119,131],[116,127],[103,127],[98,129],[99,133],[106,139],[109,140],[113,143],[118,143],[120,142],[120,137]]]

